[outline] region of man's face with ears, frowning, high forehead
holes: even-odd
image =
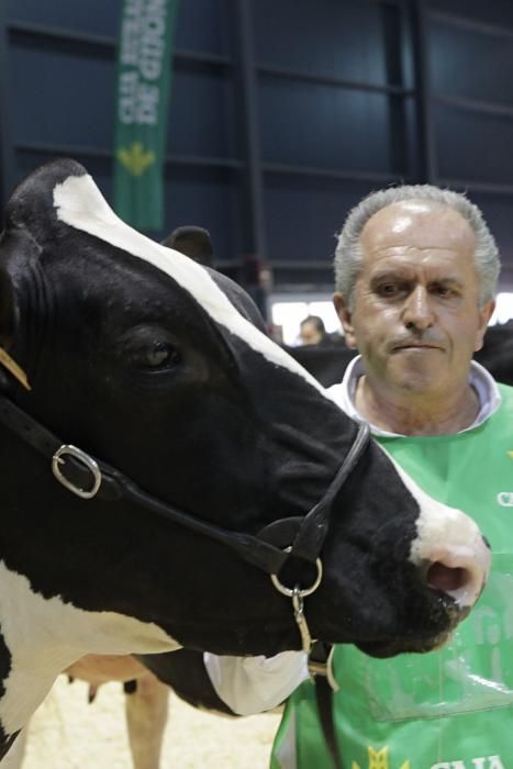
[[[339,294],[335,307],[368,378],[426,393],[461,384],[493,311],[479,309],[470,225],[446,205],[404,201],[371,216],[360,244],[353,307]]]

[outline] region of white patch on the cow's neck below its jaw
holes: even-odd
[[[11,654],[0,721],[7,734],[27,723],[55,678],[85,654],[154,654],[179,644],[153,623],[115,612],[87,612],[45,599],[0,561],[1,633]]]

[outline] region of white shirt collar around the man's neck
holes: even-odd
[[[344,379],[338,384],[332,384],[327,388],[330,398],[338,405],[348,416],[357,422],[364,422],[364,417],[356,409],[356,388],[358,379],[365,374],[361,355],[353,358],[346,371]],[[479,399],[479,413],[471,425],[461,430],[461,433],[468,430],[479,427],[489,416],[491,416],[501,404],[501,393],[497,387],[493,377],[480,364],[472,360],[470,365],[469,383],[476,390]],[[390,433],[381,430],[377,425],[369,422],[370,430],[373,435],[382,435],[383,437],[405,437],[401,433]]]

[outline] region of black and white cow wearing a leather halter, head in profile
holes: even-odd
[[[477,600],[476,525],[367,442],[249,307],[120,221],[73,160],[14,191],[0,241],[0,755],[87,654],[300,648],[270,572],[292,592],[322,561],[311,635],[381,656],[436,646]]]

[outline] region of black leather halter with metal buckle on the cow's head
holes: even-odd
[[[316,564],[320,570],[319,556],[327,534],[332,503],[369,442],[369,428],[361,424],[350,450],[321,501],[306,515],[275,521],[254,536],[207,523],[148,494],[119,470],[75,446],[64,444],[3,395],[0,395],[0,423],[48,459],[55,478],[78,497],[85,500],[98,498],[104,501],[135,503],[172,523],[226,545],[248,564],[271,576],[277,576],[291,557]],[[283,588],[281,592],[287,590],[289,589]],[[286,594],[292,594],[294,591],[298,593],[298,586]],[[308,590],[300,592],[302,595],[309,594]]]

